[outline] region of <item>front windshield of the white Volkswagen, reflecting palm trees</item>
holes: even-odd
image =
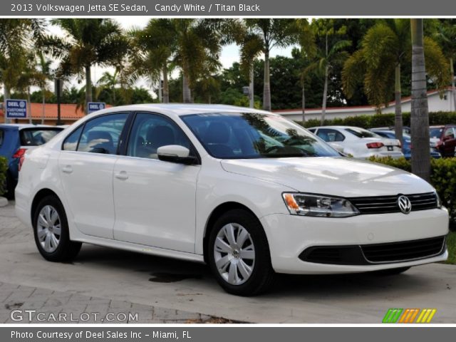
[[[277,115],[204,113],[181,117],[213,157],[337,157],[340,154],[301,126]]]

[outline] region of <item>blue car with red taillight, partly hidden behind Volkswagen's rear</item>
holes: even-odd
[[[51,140],[63,128],[47,125],[1,124],[0,125],[0,157],[8,160],[6,172],[6,194],[8,199],[14,198],[14,188],[19,177],[19,161],[26,150]]]

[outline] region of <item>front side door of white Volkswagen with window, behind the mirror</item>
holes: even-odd
[[[136,113],[125,155],[114,167],[114,238],[192,253],[200,165],[158,160],[157,148],[165,145],[183,145],[196,155],[170,118]]]

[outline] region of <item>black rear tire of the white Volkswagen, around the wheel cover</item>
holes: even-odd
[[[41,246],[41,242],[38,239],[38,217],[41,209],[46,206],[51,206],[56,209],[58,217],[60,219],[61,234],[58,242],[58,246],[53,252],[46,252]],[[73,260],[81,249],[81,242],[73,242],[70,240],[70,233],[68,231],[68,220],[66,219],[65,209],[60,200],[56,196],[46,196],[38,203],[35,212],[33,213],[33,236],[35,237],[36,247],[38,252],[43,256],[44,259],[53,262],[64,262]]]

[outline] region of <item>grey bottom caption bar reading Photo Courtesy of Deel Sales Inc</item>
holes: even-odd
[[[0,341],[4,342],[302,342],[302,341],[414,341],[429,342],[436,338],[453,341],[456,327],[256,327],[256,326],[134,326],[130,328],[81,327],[1,327]]]

